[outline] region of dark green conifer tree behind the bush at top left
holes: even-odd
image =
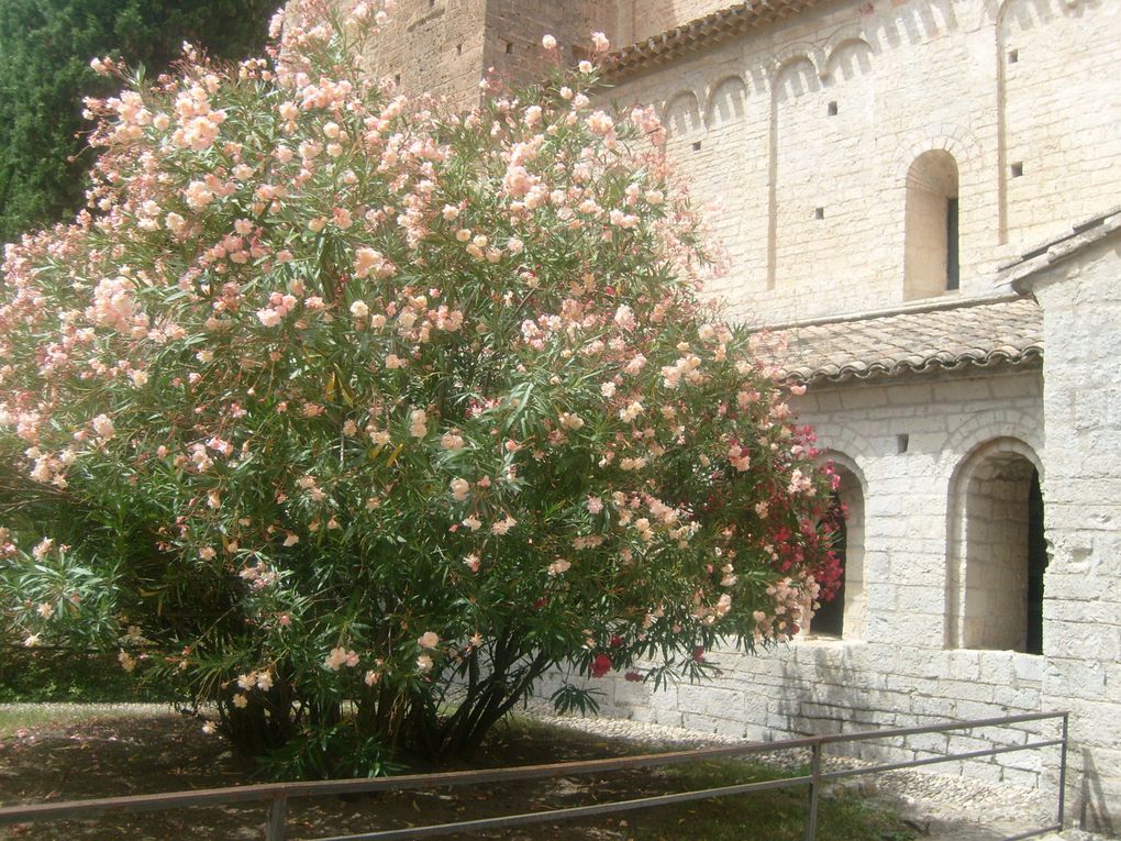
[[[0,0],[0,243],[83,205],[90,124],[82,98],[114,80],[90,68],[110,55],[149,74],[188,40],[237,59],[258,53],[279,0]]]

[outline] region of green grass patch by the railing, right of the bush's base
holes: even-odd
[[[767,765],[731,760],[675,766],[661,771],[680,791],[719,788],[803,776],[805,768],[781,771]],[[808,789],[805,786],[749,792],[637,813],[629,821],[633,841],[802,841]],[[852,793],[823,797],[817,841],[911,841],[915,835],[893,813]]]

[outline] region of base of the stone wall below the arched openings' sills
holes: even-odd
[[[1044,711],[1044,658],[1015,651],[930,651],[807,640],[758,655],[715,651],[708,658],[722,674],[705,684],[682,683],[655,692],[612,674],[583,685],[602,693],[597,700],[605,715],[757,741]],[[538,694],[548,696],[560,680],[550,676]],[[845,754],[847,748],[860,759],[907,761],[1022,745],[1031,737],[1057,732],[1057,722],[1045,721],[831,750]],[[954,760],[933,770],[1038,788],[1057,768],[1058,749],[1048,748]]]

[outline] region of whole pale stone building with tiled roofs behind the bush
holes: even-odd
[[[1077,816],[1121,829],[1121,3],[720,7],[401,0],[377,62],[466,103],[544,33],[605,31],[605,96],[660,109],[729,253],[711,292],[843,478],[832,608],[711,685],[601,682],[606,709],[757,739],[1068,709]],[[962,770],[1053,788],[1055,759]]]

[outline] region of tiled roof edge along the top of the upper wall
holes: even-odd
[[[629,73],[646,70],[680,55],[696,52],[777,20],[793,17],[817,6],[819,0],[749,0],[705,15],[696,20],[647,38],[614,53],[613,64],[606,71],[614,80]]]

